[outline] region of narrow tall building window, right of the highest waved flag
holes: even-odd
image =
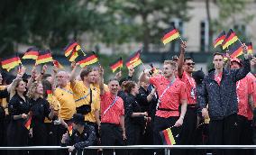
[[[200,23],[200,50],[206,51],[209,45],[209,24],[207,21]]]

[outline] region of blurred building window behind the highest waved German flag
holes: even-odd
[[[174,25],[175,28],[178,29],[179,35],[182,38],[182,35],[183,35],[183,22],[180,19],[174,19],[174,20],[172,20],[170,25]],[[179,38],[174,40],[174,41],[171,41],[170,42],[170,47],[169,47],[170,49],[169,50],[170,51],[174,51],[174,52],[178,52],[179,49],[180,49],[179,42],[180,42]]]

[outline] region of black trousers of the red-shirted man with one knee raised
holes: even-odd
[[[173,126],[178,120],[178,116],[175,117],[169,117],[169,118],[163,118],[159,116],[155,116],[154,120],[154,129],[153,129],[153,139],[154,139],[154,145],[162,145],[163,142],[160,137],[160,132]],[[180,127],[173,127],[171,128],[171,132],[174,136],[174,139],[176,141],[176,144],[179,144],[179,133],[180,133]],[[157,155],[163,155],[164,150],[155,150]],[[180,150],[170,150],[171,155],[179,154]]]

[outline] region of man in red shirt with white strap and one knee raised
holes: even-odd
[[[156,87],[159,94],[159,102],[154,120],[153,139],[155,145],[161,145],[160,132],[171,127],[171,132],[179,144],[180,126],[187,111],[186,85],[176,78],[177,63],[172,60],[165,60],[163,65],[163,76],[147,77],[143,73],[140,81],[150,82]],[[181,104],[179,114],[178,107]],[[171,150],[172,153],[178,153],[177,150]],[[163,154],[159,151],[157,154]]]

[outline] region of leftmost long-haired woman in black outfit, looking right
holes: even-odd
[[[15,79],[11,87],[10,102],[8,111],[11,116],[11,122],[7,128],[8,146],[26,146],[28,144],[29,126],[26,126],[26,119],[29,118],[30,103],[26,92],[26,85],[23,79]],[[25,155],[25,150],[10,150],[8,154]]]

